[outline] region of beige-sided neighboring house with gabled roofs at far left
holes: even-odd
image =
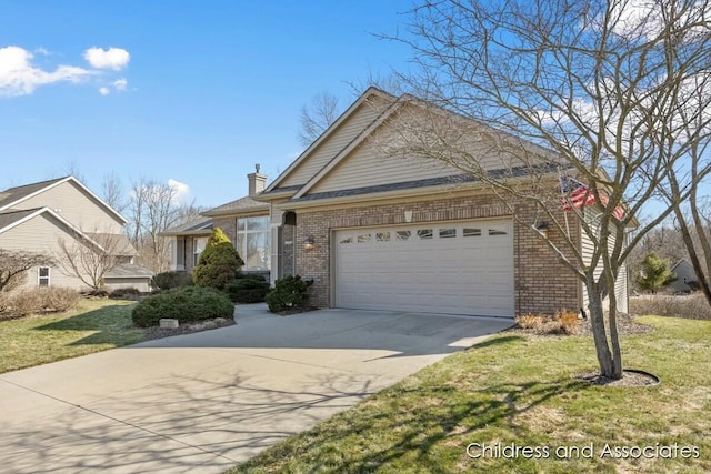
[[[101,245],[111,242],[120,264],[107,273],[108,290],[134,286],[150,291],[152,272],[133,264],[136,249],[122,234],[126,220],[73,177],[10,188],[0,192],[0,249],[58,258],[60,241]],[[58,263],[29,271],[27,286],[87,285]]]

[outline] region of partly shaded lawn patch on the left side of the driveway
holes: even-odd
[[[133,304],[80,300],[66,313],[0,321],[0,373],[142,341],[131,324]]]

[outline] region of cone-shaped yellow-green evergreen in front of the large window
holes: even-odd
[[[244,261],[221,229],[212,231],[198,265],[192,271],[192,281],[198,286],[224,290],[240,274]]]

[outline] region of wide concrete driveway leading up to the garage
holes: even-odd
[[[0,375],[0,471],[219,473],[511,320],[323,310]]]

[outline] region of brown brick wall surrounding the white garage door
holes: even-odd
[[[519,204],[515,210],[523,218],[533,215],[533,209],[528,204]],[[314,280],[311,288],[311,303],[320,307],[328,307],[331,304],[330,235],[332,230],[405,224],[405,211],[412,211],[411,223],[510,215],[508,208],[492,195],[301,212],[298,215],[294,239],[297,273],[304,279]],[[316,239],[313,249],[304,249],[300,244],[308,236]],[[552,239],[555,241],[557,236],[553,235]],[[577,309],[578,280],[554,259],[550,249],[534,235],[533,231],[514,221],[513,244],[517,313],[550,313],[563,307]]]

